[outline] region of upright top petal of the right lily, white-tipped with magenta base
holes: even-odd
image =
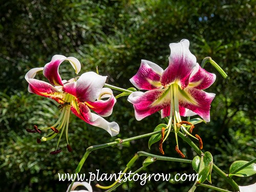
[[[170,44],[169,47],[169,66],[164,70],[160,81],[164,86],[177,82],[184,89],[188,86],[189,76],[196,67],[197,59],[189,51],[187,39]]]

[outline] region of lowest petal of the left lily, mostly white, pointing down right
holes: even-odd
[[[79,111],[77,111],[77,109]],[[88,124],[100,127],[107,131],[111,136],[116,136],[119,133],[119,125],[116,122],[108,122],[103,117],[91,113],[90,109],[85,103],[78,103],[78,108],[71,107],[71,111],[80,119],[86,121]]]

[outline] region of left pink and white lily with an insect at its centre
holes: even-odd
[[[113,92],[109,88],[103,88],[106,81],[106,76],[98,75],[94,72],[83,73],[80,77],[70,80],[62,80],[58,69],[63,61],[69,61],[78,74],[81,65],[75,57],[65,57],[63,55],[54,55],[52,60],[43,68],[34,68],[28,71],[25,79],[29,83],[28,91],[43,97],[54,99],[59,103],[58,108],[61,114],[57,122],[50,127],[34,126],[35,130],[27,130],[28,132],[39,132],[40,130],[52,130],[47,137],[42,137],[37,141],[47,141],[54,138],[61,130],[59,140],[63,131],[66,128],[67,147],[71,151],[68,142],[68,126],[70,111],[77,117],[87,123],[100,127],[106,130],[111,136],[116,136],[119,133],[119,125],[116,122],[108,122],[103,117],[110,116],[113,111],[113,106],[116,102]],[[42,71],[44,76],[50,83],[35,79],[37,72]],[[102,100],[104,98],[104,100]],[[96,112],[91,113],[91,110]],[[58,141],[59,143],[59,141]],[[52,152],[58,153],[55,151]]]

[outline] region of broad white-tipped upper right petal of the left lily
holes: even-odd
[[[105,81],[106,76],[87,72],[83,73],[77,81],[65,84],[62,90],[72,94],[81,102],[95,101],[100,95]]]

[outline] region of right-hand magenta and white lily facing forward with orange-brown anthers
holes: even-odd
[[[138,72],[130,81],[136,88],[147,91],[133,92],[128,101],[134,105],[137,120],[158,111],[161,111],[162,118],[169,116],[166,128],[170,128],[173,122],[177,141],[180,127],[190,135],[182,125],[180,116],[197,114],[206,122],[210,121],[210,103],[215,94],[203,90],[214,83],[216,75],[199,66],[196,57],[189,51],[187,39],[172,43],[169,47],[169,66],[165,70],[151,61],[141,61]]]

